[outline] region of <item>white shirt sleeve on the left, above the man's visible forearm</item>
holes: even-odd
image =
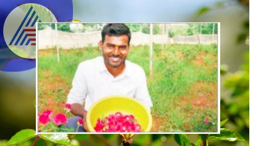
[[[84,71],[81,64],[78,65],[72,82],[72,88],[69,91],[67,103],[79,103],[83,105],[87,95],[87,84],[84,77]]]

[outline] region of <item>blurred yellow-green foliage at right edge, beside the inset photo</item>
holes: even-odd
[[[225,76],[224,85],[232,92],[229,101],[223,99],[221,102],[221,118],[230,116],[229,121],[237,124],[237,131],[249,128],[249,52],[245,57],[241,70]]]

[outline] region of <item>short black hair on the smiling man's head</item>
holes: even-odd
[[[130,45],[131,40],[131,31],[130,29],[123,23],[108,23],[106,24],[101,31],[101,40],[104,42],[105,36],[120,36],[120,35],[128,36],[128,45]]]

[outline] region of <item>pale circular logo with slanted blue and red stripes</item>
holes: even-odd
[[[55,16],[40,4],[22,4],[13,9],[4,22],[4,40],[16,55],[36,58],[36,22],[57,22]]]

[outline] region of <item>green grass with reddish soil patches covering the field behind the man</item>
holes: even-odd
[[[146,73],[154,105],[153,130],[217,131],[217,45],[165,45],[162,49],[154,44],[153,48],[150,79],[148,46],[132,46],[127,57]],[[40,50],[39,111],[52,100],[59,106],[52,108],[65,104],[78,63],[101,54],[97,47],[60,50],[57,62],[54,48]],[[210,123],[204,123],[205,118]]]

